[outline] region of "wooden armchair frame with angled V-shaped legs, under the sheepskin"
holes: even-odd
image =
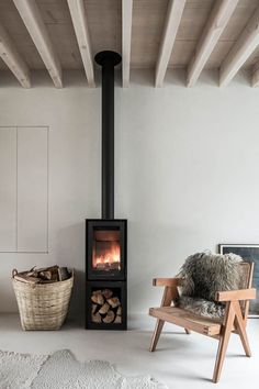
[[[243,270],[246,275],[247,289],[218,291],[215,296],[215,301],[226,302],[225,316],[223,320],[207,319],[171,305],[172,300],[179,296],[178,287],[181,285],[180,278],[154,279],[153,285],[156,287],[165,287],[165,291],[160,308],[149,309],[149,314],[157,319],[149,351],[154,352],[156,349],[164,323],[169,322],[182,326],[187,334],[194,331],[218,341],[213,382],[219,380],[227,344],[232,333],[239,335],[246,356],[250,357],[251,352],[247,338],[246,324],[249,300],[256,298],[256,289],[251,288],[254,264],[243,263],[240,266],[243,266]]]

